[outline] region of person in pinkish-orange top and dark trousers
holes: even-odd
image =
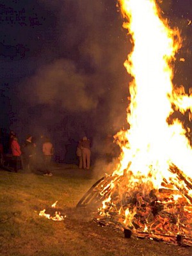
[[[45,138],[45,142],[43,143],[42,151],[44,154],[44,163],[45,163],[45,174],[48,176],[52,176],[52,173],[50,172],[50,164],[51,164],[51,158],[53,155],[53,146],[49,138]]]

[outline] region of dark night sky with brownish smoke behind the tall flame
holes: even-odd
[[[192,0],[161,4],[184,37],[174,83],[191,87]],[[114,0],[0,1],[1,127],[20,138],[97,138],[125,125],[131,50]]]

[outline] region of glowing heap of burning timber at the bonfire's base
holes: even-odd
[[[192,197],[187,193],[192,182],[177,166],[170,166],[170,172],[175,173],[174,180],[164,179],[162,188],[150,191],[142,183],[129,189],[131,171],[121,176],[103,177],[77,206],[96,206],[103,202],[104,207],[94,219],[100,226],[112,226],[124,232],[130,230],[137,237],[192,246]],[[128,213],[129,218],[126,218]]]

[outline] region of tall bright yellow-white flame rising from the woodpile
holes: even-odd
[[[182,177],[190,179],[192,176],[192,150],[186,130],[178,119],[168,123],[175,110],[184,114],[192,108],[191,95],[184,92],[184,87],[174,90],[172,83],[175,54],[182,46],[179,29],[168,26],[155,0],[118,2],[127,20],[124,28],[131,34],[133,45],[124,63],[132,76],[129,84],[131,99],[127,109],[130,128],[115,136],[122,154],[113,172],[113,196],[109,195],[104,200],[103,209],[112,201],[115,189],[119,196],[125,195],[125,188],[127,193],[133,193],[136,188],[149,193],[152,189],[162,188],[164,181],[172,189],[184,191],[187,200],[191,199],[188,195],[192,195],[192,190],[186,188],[182,180],[178,182],[177,173],[170,172],[172,166],[177,166],[177,170],[182,170]],[[118,184],[122,175],[124,180]],[[171,200],[177,202],[179,198],[180,195],[173,195]],[[136,199],[137,202],[142,201],[139,195]],[[114,207],[115,202],[112,201],[111,205]],[[120,204],[115,208],[119,214],[125,215],[124,224],[131,226],[136,209],[125,209]],[[103,213],[104,210],[101,211]]]

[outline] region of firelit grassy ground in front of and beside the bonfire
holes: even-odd
[[[63,166],[52,177],[0,170],[0,255],[2,256],[191,256],[192,249],[125,239],[92,221],[92,212],[76,208],[95,183],[92,171]],[[63,221],[40,217],[58,200]],[[49,212],[47,212],[49,213]]]

